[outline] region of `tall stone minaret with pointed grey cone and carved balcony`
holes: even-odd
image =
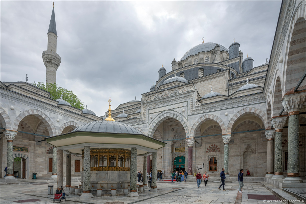
[[[61,57],[56,53],[56,24],[54,14],[54,4],[48,30],[48,49],[43,51],[43,63],[46,66],[46,83],[56,83],[56,70],[61,64]]]

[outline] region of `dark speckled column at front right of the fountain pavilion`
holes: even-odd
[[[139,196],[137,193],[137,148],[131,147],[130,192],[129,197]]]

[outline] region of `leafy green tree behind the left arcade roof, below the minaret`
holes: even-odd
[[[60,87],[56,83],[47,83],[47,85],[45,85],[45,83],[43,82],[33,82],[32,84],[38,88],[50,92],[50,95],[51,97],[53,97],[54,100],[60,99],[62,96],[62,98],[65,101],[69,102],[71,106],[81,110],[84,109],[84,103],[81,102],[80,99],[76,96],[76,94],[73,93],[73,91],[71,90]]]

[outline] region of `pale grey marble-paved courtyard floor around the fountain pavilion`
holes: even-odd
[[[198,188],[196,183],[158,182],[156,193],[140,193],[137,197],[107,196],[89,199],[68,195],[67,201],[62,203],[266,203],[249,197],[264,195],[273,198],[273,194],[258,183],[244,184],[242,194],[237,193],[238,183],[226,184],[227,191],[219,191],[220,184],[208,182],[206,188],[204,184]],[[54,198],[54,195],[48,195],[48,184],[2,185],[0,193],[0,203],[53,203]]]

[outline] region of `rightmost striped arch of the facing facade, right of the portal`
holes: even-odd
[[[252,114],[255,115],[257,117],[259,117],[259,119],[263,122],[264,126],[266,127],[266,113],[264,113],[262,110],[258,109],[258,108],[254,108],[254,107],[247,107],[244,108],[240,111],[238,111],[231,119],[229,124],[227,125],[227,133],[231,133],[232,128],[233,128],[233,124],[242,116],[244,116],[245,114]]]

